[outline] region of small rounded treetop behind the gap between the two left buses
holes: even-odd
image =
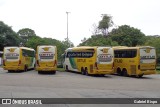
[[[23,28],[17,32],[18,36],[20,36],[23,40],[23,44],[25,45],[29,38],[32,36],[36,36],[34,30],[30,28]]]

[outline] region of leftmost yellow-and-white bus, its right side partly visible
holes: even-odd
[[[35,50],[27,47],[4,47],[3,69],[27,71],[35,67]]]

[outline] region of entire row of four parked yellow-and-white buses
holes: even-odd
[[[35,68],[38,73],[56,73],[56,46],[37,46],[36,53],[34,49],[27,47],[5,47],[3,53],[3,68],[9,72]],[[151,46],[81,46],[66,49],[62,56],[66,71],[83,75],[142,77],[156,73],[156,50]]]

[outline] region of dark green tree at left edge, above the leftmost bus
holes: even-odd
[[[21,39],[12,28],[0,21],[0,50],[5,46],[19,46]]]

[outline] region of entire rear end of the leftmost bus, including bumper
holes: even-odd
[[[4,47],[3,68],[4,70],[16,71],[23,70],[20,66],[20,49],[19,47]]]

